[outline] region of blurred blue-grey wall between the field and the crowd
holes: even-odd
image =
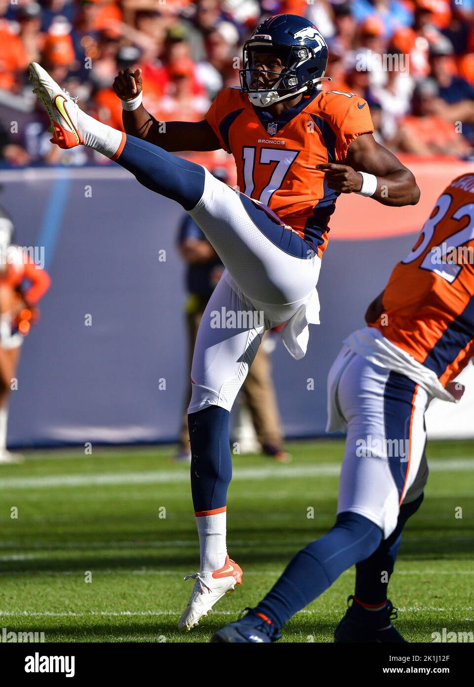
[[[52,279],[23,346],[9,444],[176,440],[187,384],[180,207],[121,168],[3,170],[0,182],[17,243],[45,247]],[[287,437],[324,434],[329,367],[413,238],[330,241],[307,356],[294,361],[280,341],[272,354]]]

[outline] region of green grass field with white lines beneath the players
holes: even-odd
[[[235,456],[228,543],[244,584],[184,635],[176,627],[193,581],[182,578],[197,570],[198,545],[189,468],[171,462],[171,449],[32,453],[22,465],[1,466],[0,633],[44,631],[47,642],[209,641],[333,524],[342,442],[288,449],[289,465]],[[431,443],[428,458],[425,502],[407,525],[390,587],[397,627],[420,642],[443,627],[474,629],[474,442]],[[331,642],[351,592],[353,570],[294,616],[281,641]]]

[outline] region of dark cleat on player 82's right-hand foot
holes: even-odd
[[[349,596],[347,601],[353,600],[346,615],[334,631],[334,641],[339,644],[350,642],[405,642],[392,620],[397,616],[398,609],[394,608],[390,599],[386,606],[379,611],[370,611]]]

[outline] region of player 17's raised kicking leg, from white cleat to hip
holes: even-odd
[[[319,322],[316,251],[267,207],[230,189],[202,166],[97,122],[40,65],[31,63],[29,71],[51,120],[52,142],[62,148],[89,146],[132,172],[146,188],[180,203],[239,289],[277,324],[305,308],[282,337],[294,357],[303,357],[305,325]]]

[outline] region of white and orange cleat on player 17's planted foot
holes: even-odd
[[[233,592],[235,585],[242,583],[242,570],[235,561],[226,557],[226,562],[220,570],[213,572],[195,572],[187,575],[185,580],[195,580],[193,593],[185,612],[178,622],[178,629],[181,632],[189,632],[191,627],[195,627],[201,618],[204,618],[215,603],[224,594]]]

